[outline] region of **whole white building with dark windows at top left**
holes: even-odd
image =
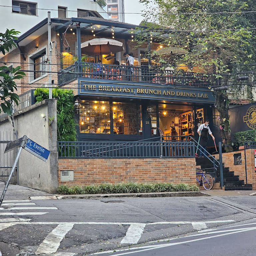
[[[108,19],[107,8],[100,7],[96,0],[33,0],[33,1],[2,1],[0,6],[1,32],[6,28],[15,29],[23,34],[32,26],[47,17],[47,12],[51,11],[54,18],[83,18],[99,17]],[[8,22],[7,22],[8,21]]]

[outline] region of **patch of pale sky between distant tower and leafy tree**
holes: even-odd
[[[144,5],[139,3],[139,0],[124,0],[124,12],[136,12],[139,13],[144,9]],[[142,21],[140,14],[125,14],[125,22],[135,25],[139,25]]]

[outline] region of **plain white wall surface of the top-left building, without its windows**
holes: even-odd
[[[105,11],[106,8],[101,8],[96,2],[92,0],[33,0],[33,1],[23,1],[30,3],[37,3],[37,15],[28,15],[21,13],[13,13],[12,7],[0,6],[0,31],[4,32],[6,28],[15,29],[23,34],[31,27],[38,24],[43,19],[47,18],[48,10],[40,9],[52,9],[51,12],[52,18],[58,18],[58,6],[66,7],[66,17],[77,17],[77,9],[84,9],[98,12],[104,19],[108,19],[108,14]],[[12,0],[2,0],[1,5],[12,6]]]

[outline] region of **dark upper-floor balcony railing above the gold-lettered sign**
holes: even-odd
[[[151,82],[186,86],[218,85],[220,81],[213,76],[182,72],[177,75],[163,66],[123,66],[89,62],[75,62],[59,72],[59,84],[65,84],[78,77],[132,82]]]

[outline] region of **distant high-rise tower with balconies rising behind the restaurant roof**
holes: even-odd
[[[124,22],[124,0],[105,0],[109,19]]]

